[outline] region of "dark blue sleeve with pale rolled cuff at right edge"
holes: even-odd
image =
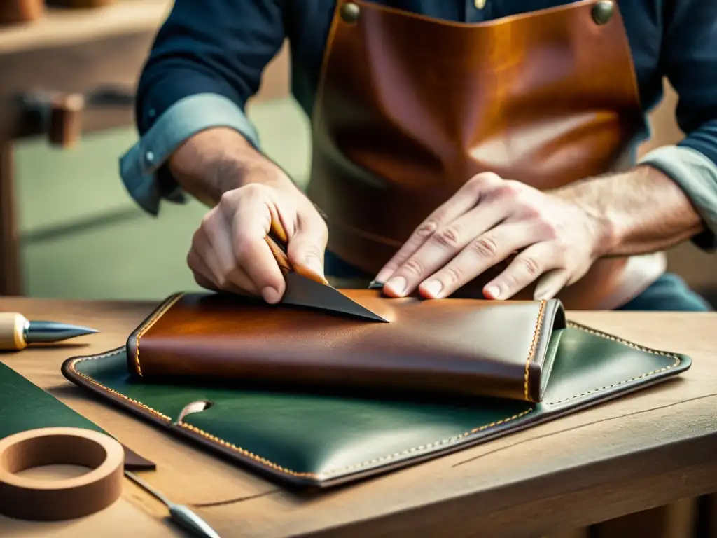
[[[717,250],[717,2],[665,5],[661,60],[679,96],[676,116],[685,138],[656,148],[642,162],[680,185],[706,227],[693,242]]]

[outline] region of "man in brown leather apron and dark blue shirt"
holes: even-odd
[[[306,195],[244,115],[285,39]],[[685,137],[637,161],[663,77]],[[176,0],[136,121],[138,204],[212,207],[187,258],[206,288],[280,300],[274,218],[295,265],[389,296],[710,309],[663,251],[717,247],[715,1]]]

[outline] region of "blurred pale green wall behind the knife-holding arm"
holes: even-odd
[[[291,176],[308,176],[308,120],[293,100],[250,109],[266,153]],[[118,176],[132,128],[87,136],[60,151],[18,144],[22,262],[29,296],[158,299],[196,288],[186,268],[191,236],[206,212],[197,202],[164,204],[159,217],[138,209]]]

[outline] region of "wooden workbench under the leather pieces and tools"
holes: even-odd
[[[122,345],[154,306],[0,299],[0,311],[102,330],[75,344],[28,349],[0,359],[155,461],[157,470],[143,473],[144,478],[174,501],[193,506],[224,538],[308,533],[554,537],[562,536],[564,529],[717,491],[717,314],[571,314],[575,321],[639,344],[688,354],[693,367],[681,379],[521,433],[319,496],[300,497],[163,434],[62,377],[60,364],[67,357]],[[0,535],[110,537],[127,536],[132,529],[135,536],[171,536],[175,531],[163,522],[164,515],[158,502],[125,481],[123,499],[90,518],[57,524],[0,518]],[[122,520],[125,527],[112,534]],[[708,532],[713,534],[703,536],[717,536],[717,528]],[[594,535],[622,537],[617,532]]]

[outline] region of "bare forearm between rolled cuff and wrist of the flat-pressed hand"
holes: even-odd
[[[554,194],[597,222],[602,256],[657,252],[704,230],[685,192],[652,166],[578,181]]]

